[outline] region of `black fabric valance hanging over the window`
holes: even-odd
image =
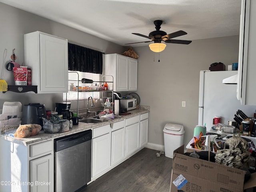
[[[68,70],[102,74],[103,53],[68,43]]]

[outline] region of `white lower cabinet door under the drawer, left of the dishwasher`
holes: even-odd
[[[30,161],[30,192],[51,192],[54,190],[53,155]]]

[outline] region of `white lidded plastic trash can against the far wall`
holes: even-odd
[[[183,145],[183,125],[168,123],[164,126],[164,155],[173,158],[173,151]]]

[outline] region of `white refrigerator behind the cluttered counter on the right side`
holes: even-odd
[[[222,84],[224,78],[237,71],[200,71],[198,125],[206,124],[210,131],[214,116],[221,116],[220,123],[235,121],[238,109],[253,117],[256,106],[241,105],[236,98],[236,84]]]

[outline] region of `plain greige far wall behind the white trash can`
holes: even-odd
[[[238,62],[238,45],[239,36],[194,40],[189,45],[167,44],[160,52],[160,62],[159,54],[148,46],[134,48],[139,55],[140,104],[150,106],[150,143],[164,145],[164,125],[172,122],[184,125],[184,144],[188,144],[198,124],[200,70],[208,70],[214,62],[226,67]],[[182,101],[186,107],[181,106]]]

